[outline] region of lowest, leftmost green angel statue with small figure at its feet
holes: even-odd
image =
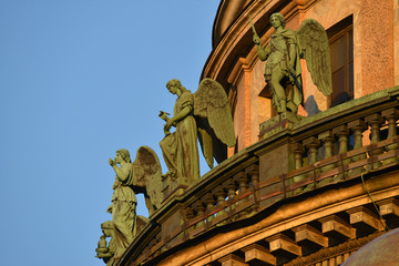
[[[102,258],[106,265],[114,265],[149,223],[149,218],[136,215],[135,194],[144,194],[150,216],[161,207],[162,170],[155,152],[147,146],[141,146],[137,150],[133,163],[125,149],[117,150],[115,158],[110,158],[109,163],[116,174],[112,187],[114,190],[112,204],[108,208],[108,212],[112,214],[112,221],[101,225],[103,236],[96,248],[96,257]],[[111,237],[109,246],[106,246],[105,237]]]

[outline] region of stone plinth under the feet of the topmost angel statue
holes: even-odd
[[[293,129],[301,116],[291,112],[283,112],[259,125],[259,141],[270,137],[284,130]]]

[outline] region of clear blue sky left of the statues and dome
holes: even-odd
[[[163,161],[165,83],[196,90],[218,3],[0,0],[1,265],[104,265],[108,160],[147,145]]]

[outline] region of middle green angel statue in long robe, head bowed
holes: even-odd
[[[200,82],[193,94],[178,80],[170,80],[167,90],[177,95],[173,116],[161,111],[165,120],[165,137],[160,142],[168,172],[164,175],[178,184],[191,184],[200,178],[198,144],[208,166],[226,158],[226,145],[234,146],[236,139],[226,92],[212,80]],[[170,129],[175,126],[174,133]]]

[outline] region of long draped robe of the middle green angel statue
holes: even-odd
[[[176,131],[160,142],[165,164],[180,184],[191,184],[200,178],[197,125],[193,116],[194,98],[188,90],[182,91],[177,98],[173,116],[186,106],[191,109],[190,114],[177,121]]]

